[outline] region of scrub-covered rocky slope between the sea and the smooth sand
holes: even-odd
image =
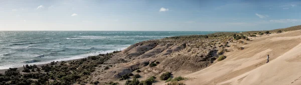
[[[129,77],[129,74],[140,74],[141,77],[138,77],[139,80],[145,80],[150,76],[161,77],[160,75],[165,72],[172,72],[173,76],[186,76],[199,70],[207,70],[207,67],[211,65],[214,66],[217,64],[216,59],[223,54],[228,57],[226,59],[231,59],[231,56],[228,55],[231,52],[251,50],[246,45],[254,44],[253,40],[256,42],[263,37],[274,36],[274,34],[285,34],[275,32],[276,29],[269,31],[218,32],[206,35],[183,35],[144,40],[117,52],[113,51],[107,54],[85,56],[77,59],[58,61],[57,63],[37,64],[38,68],[36,67],[36,71],[35,66],[27,66],[24,71],[22,71],[23,67],[17,67],[17,70],[19,74],[21,73],[20,75],[25,77],[28,77],[28,74],[47,74],[49,77],[45,77],[46,81],[49,79],[72,79],[71,81],[67,81],[70,84],[97,84],[111,81],[124,84],[125,81],[133,78]],[[263,34],[262,32],[267,33]],[[257,37],[258,39],[254,39]],[[4,73],[6,70],[8,69],[1,69],[0,73]],[[141,73],[138,73],[138,70]],[[10,69],[9,71],[17,72],[15,69]],[[5,76],[9,77],[10,74],[5,74]],[[39,79],[39,77],[31,78]],[[154,82],[155,84],[163,83],[160,79],[156,80],[159,82]],[[9,82],[10,80],[7,81],[11,83]],[[29,82],[53,83],[56,81],[40,82],[38,80],[37,82]]]

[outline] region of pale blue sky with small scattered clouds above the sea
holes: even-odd
[[[0,0],[0,30],[248,31],[301,23],[301,0]]]

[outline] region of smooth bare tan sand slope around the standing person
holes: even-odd
[[[186,84],[301,84],[301,30],[257,37],[185,77]],[[270,62],[266,62],[266,55]]]

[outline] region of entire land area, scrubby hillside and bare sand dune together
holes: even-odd
[[[181,76],[185,79],[176,81],[185,84],[301,84],[298,29],[300,25],[147,40],[113,53],[25,66],[20,72],[9,69],[0,79],[1,84],[128,84],[136,79],[166,84],[167,78]],[[167,72],[171,76],[163,77]],[[147,82],[152,76],[157,78]]]

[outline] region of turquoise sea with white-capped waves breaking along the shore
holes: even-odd
[[[0,31],[0,69],[122,50],[139,41],[216,31]]]

